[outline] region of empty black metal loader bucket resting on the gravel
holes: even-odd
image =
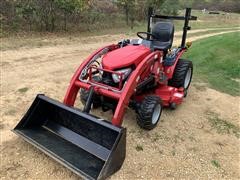
[[[105,179],[125,159],[125,128],[44,95],[37,95],[13,131],[86,179]]]

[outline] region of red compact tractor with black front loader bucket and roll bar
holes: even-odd
[[[140,39],[94,52],[75,72],[63,103],[37,95],[13,131],[84,178],[112,175],[125,159],[126,107],[135,110],[141,128],[151,130],[163,107],[175,108],[187,95],[193,66],[181,56],[190,47],[189,20],[196,19],[190,8],[185,16],[156,15],[149,8],[147,32],[138,32]],[[181,46],[174,49],[171,20],[185,22]],[[78,93],[82,111],[74,107]],[[90,114],[97,107],[113,112],[111,122]]]

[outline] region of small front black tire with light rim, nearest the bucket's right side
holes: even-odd
[[[160,111],[157,111],[154,115],[155,109],[160,107]],[[146,130],[151,130],[156,127],[160,116],[162,114],[162,102],[158,96],[146,96],[142,103],[139,105],[137,109],[137,123],[138,125]]]

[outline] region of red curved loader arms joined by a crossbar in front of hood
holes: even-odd
[[[88,59],[77,69],[76,73],[74,74],[70,85],[68,87],[67,93],[64,98],[64,104],[67,106],[74,106],[74,102],[76,100],[77,93],[80,88],[84,88],[89,90],[93,85],[90,83],[82,82],[79,80],[79,76],[81,72],[84,70],[86,65],[96,56],[97,54],[101,53],[104,49],[114,50],[117,48],[117,45],[110,45],[104,48],[97,50],[93,53]],[[145,57],[142,62],[137,66],[137,68],[132,72],[129,79],[127,80],[126,84],[124,85],[121,91],[114,91],[111,89],[112,87],[106,86],[106,88],[102,86],[98,86],[97,84],[94,85],[93,89],[94,92],[100,95],[104,95],[106,97],[113,98],[118,101],[116,110],[112,117],[112,124],[115,126],[121,126],[125,108],[128,106],[130,98],[135,93],[137,88],[138,81],[140,79],[140,75],[145,71],[150,64],[153,64],[156,59],[160,59],[161,52],[155,51]]]

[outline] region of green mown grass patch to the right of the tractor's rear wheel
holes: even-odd
[[[194,77],[233,96],[240,95],[240,32],[209,37],[193,43],[184,58],[194,64]]]

